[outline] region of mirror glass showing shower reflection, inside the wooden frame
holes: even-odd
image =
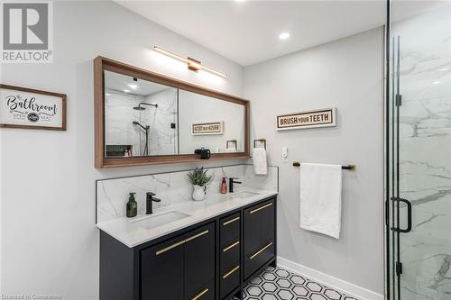
[[[105,157],[244,151],[244,105],[105,70]]]

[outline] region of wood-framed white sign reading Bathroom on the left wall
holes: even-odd
[[[66,130],[66,95],[0,84],[0,127]]]

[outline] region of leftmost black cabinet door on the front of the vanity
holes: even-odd
[[[183,237],[141,251],[141,299],[183,300]]]

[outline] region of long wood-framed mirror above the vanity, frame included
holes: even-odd
[[[249,101],[136,68],[94,59],[95,167],[250,157]],[[230,141],[235,141],[231,147]]]

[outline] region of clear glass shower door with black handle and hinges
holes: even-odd
[[[391,5],[387,298],[451,299],[451,5]]]

